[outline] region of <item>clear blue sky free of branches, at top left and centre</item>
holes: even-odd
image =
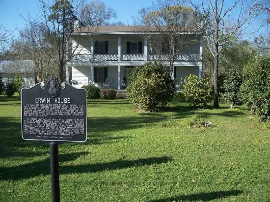
[[[125,24],[133,24],[132,15],[136,16],[138,11],[152,5],[152,0],[102,0],[108,7],[112,7],[118,15],[117,20]],[[38,13],[38,0],[0,0],[0,24],[9,30],[22,28],[26,22],[20,17],[19,12],[27,17],[28,11],[32,16]],[[14,32],[15,36],[18,32]]]

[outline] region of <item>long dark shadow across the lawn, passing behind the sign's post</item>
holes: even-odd
[[[86,153],[71,153],[59,155],[59,161],[71,161]],[[170,161],[170,157],[149,157],[136,160],[116,160],[105,163],[95,163],[86,165],[59,166],[59,174],[72,173],[94,173],[104,170],[117,170],[123,168],[139,167],[151,164],[161,164]],[[0,167],[0,180],[20,180],[33,178],[40,175],[50,175],[50,158],[36,161],[29,164]]]

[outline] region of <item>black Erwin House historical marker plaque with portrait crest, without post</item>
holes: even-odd
[[[50,79],[22,89],[22,136],[25,140],[84,142],[86,90]]]

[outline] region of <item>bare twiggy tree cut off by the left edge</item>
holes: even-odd
[[[0,60],[3,60],[7,54],[12,42],[12,32],[0,24]]]

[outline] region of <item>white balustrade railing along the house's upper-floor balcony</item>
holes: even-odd
[[[121,54],[123,61],[143,61],[144,54]],[[117,61],[118,54],[94,54],[93,61]],[[168,61],[169,54],[148,54],[148,60]],[[199,54],[178,54],[176,61],[201,61]],[[90,54],[78,54],[72,58],[72,61],[91,61]]]

